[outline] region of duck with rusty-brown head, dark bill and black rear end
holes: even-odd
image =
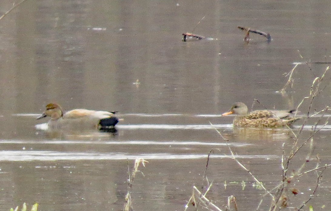
[[[38,116],[37,119],[50,117],[48,130],[103,130],[106,128],[114,128],[118,123],[118,118],[115,116],[115,113],[117,112],[88,109],[73,109],[64,113],[59,104],[49,103],[46,105],[46,110]]]

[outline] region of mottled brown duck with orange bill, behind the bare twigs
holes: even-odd
[[[236,102],[232,105],[230,111],[225,112],[222,116],[236,114],[233,120],[233,126],[253,127],[253,128],[281,128],[292,126],[299,120],[299,117],[293,116],[295,110],[258,110],[248,113],[245,103]]]

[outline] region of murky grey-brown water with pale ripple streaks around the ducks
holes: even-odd
[[[250,109],[296,108],[328,66],[323,62],[331,61],[330,4],[27,0],[0,20],[0,209],[37,201],[40,210],[120,210],[128,164],[132,168],[134,159],[144,158],[144,176],[138,174],[132,188],[134,210],[184,210],[192,186],[205,185],[207,154],[214,149],[207,197],[224,209],[234,195],[239,209],[255,210],[264,191],[227,157],[215,128],[268,189],[281,180],[282,145],[289,152],[294,135],[233,130],[233,116],[220,114],[236,101]],[[0,14],[12,5],[1,1]],[[251,34],[246,44],[237,26],[269,32],[273,40],[268,44]],[[182,42],[184,32],[214,39]],[[305,61],[310,69],[299,65],[293,87],[281,95],[284,73]],[[312,111],[329,104],[329,79]],[[116,110],[124,120],[116,133],[36,130],[44,121],[35,117],[49,102],[68,110]],[[305,101],[300,115],[308,106]],[[302,141],[318,119],[307,123]],[[327,124],[314,136],[304,171],[316,166],[316,155],[321,165],[331,163],[330,129]],[[304,147],[290,170],[305,163],[309,152]],[[331,206],[330,170],[324,175],[308,203],[316,210]],[[293,186],[300,194],[289,195],[289,206],[307,200],[316,180],[314,172],[298,178]],[[259,209],[269,205],[266,196]]]

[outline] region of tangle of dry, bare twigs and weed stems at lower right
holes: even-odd
[[[307,63],[308,64],[308,63]],[[286,88],[291,84],[291,87],[293,86],[293,71],[297,65],[292,69],[292,71],[287,74],[286,76],[289,76],[289,79],[287,80],[285,86],[281,90],[281,93],[284,94],[286,92]],[[257,205],[256,208],[250,207],[249,210],[266,210],[266,207],[261,208],[261,204],[264,200],[269,200],[270,204],[269,211],[276,211],[281,210],[284,208],[288,209],[294,209],[294,210],[304,210],[305,207],[308,206],[308,202],[316,196],[316,193],[318,191],[318,187],[321,184],[321,178],[323,177],[323,172],[326,168],[331,167],[331,164],[322,164],[321,160],[319,159],[318,154],[314,153],[314,135],[320,132],[328,123],[329,123],[329,116],[325,117],[326,111],[330,109],[330,104],[326,105],[325,108],[316,111],[313,110],[313,104],[314,101],[316,101],[316,98],[325,90],[327,87],[327,83],[330,81],[330,78],[327,79],[327,75],[329,72],[330,67],[326,67],[325,71],[320,77],[315,77],[312,81],[312,84],[310,86],[310,90],[307,94],[307,96],[303,97],[302,101],[299,103],[296,109],[296,113],[298,112],[299,108],[303,104],[306,104],[308,106],[308,110],[305,112],[305,117],[303,118],[303,124],[299,128],[299,130],[294,131],[293,129],[288,127],[288,130],[291,131],[293,135],[293,142],[287,143],[284,141],[282,143],[282,154],[281,156],[281,162],[280,165],[280,174],[281,174],[281,180],[279,181],[278,185],[273,187],[272,189],[267,189],[263,182],[261,182],[257,176],[252,173],[247,166],[245,166],[240,160],[235,156],[236,153],[234,150],[230,147],[230,145],[227,144],[229,139],[224,138],[222,133],[218,131],[216,128],[215,131],[220,135],[220,138],[226,143],[228,150],[230,152],[230,155],[228,156],[229,159],[234,160],[242,169],[243,171],[246,171],[255,181],[255,183],[259,186],[259,189],[262,190],[264,193],[260,197],[260,203]],[[324,82],[326,81],[326,82]],[[315,124],[311,127],[310,134],[308,137],[305,137],[303,135],[303,129],[305,125],[307,124],[307,121],[316,116],[317,114],[320,115],[319,119],[315,121]],[[212,126],[213,124],[210,123]],[[301,156],[299,151],[302,150],[308,151],[308,154],[306,154],[304,158],[298,156]],[[209,166],[210,161],[210,154],[214,152],[215,149],[210,150],[207,158],[207,164],[205,169],[205,174],[203,178],[203,183],[206,183],[206,185],[202,185],[201,190],[199,190],[196,185],[192,188],[192,195],[188,199],[187,204],[185,205],[184,211],[188,210],[190,205],[194,206],[195,210],[199,210],[199,208],[204,208],[207,210],[217,210],[217,211],[223,211],[220,207],[225,207],[226,211],[238,211],[240,210],[238,208],[236,197],[234,195],[230,195],[227,198],[227,204],[222,206],[215,205],[210,199],[207,198],[207,193],[211,190],[213,186],[213,182],[210,183],[207,176],[207,168]],[[294,167],[292,165],[292,161],[294,159],[302,160],[302,164],[299,167]],[[314,168],[307,167],[307,163],[310,161],[315,162]],[[313,174],[314,173],[314,174]],[[298,193],[299,190],[296,189],[297,184],[300,183],[301,177],[304,175],[311,175],[312,177],[316,177],[315,184],[304,184],[305,186],[311,186],[311,193],[306,197],[304,201],[296,201],[295,204],[298,204],[296,207],[290,207],[289,201],[291,200],[292,204],[296,200],[294,198]],[[246,185],[242,184],[243,188]],[[226,182],[224,182],[224,187],[226,189]],[[324,206],[324,205],[323,205]],[[322,208],[323,208],[322,206]],[[309,206],[309,211],[313,211],[313,207]]]

